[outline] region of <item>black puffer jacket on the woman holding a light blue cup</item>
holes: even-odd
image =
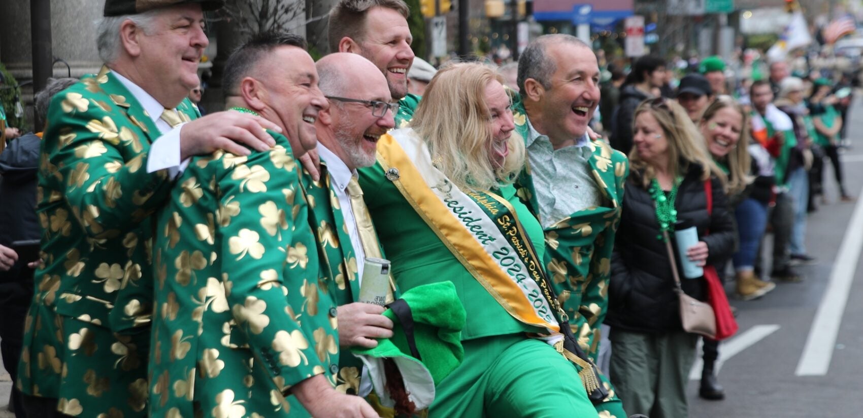
[[[709,248],[709,265],[718,265],[734,251],[734,219],[718,179],[712,178],[713,214],[707,213],[707,199],[701,167],[690,165],[677,191],[677,220],[692,221]],[[630,332],[666,333],[683,329],[678,312],[671,262],[659,232],[652,197],[641,186],[640,173],[627,180],[620,228],[611,259],[608,290],[608,318],[612,328]],[[710,234],[705,236],[709,229]],[[673,234],[672,245],[673,245]],[[682,271],[677,267],[678,271]],[[707,299],[704,278],[681,278],[683,290],[700,300]]]

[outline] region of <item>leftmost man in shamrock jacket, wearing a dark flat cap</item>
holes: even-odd
[[[274,144],[258,116],[199,118],[186,99],[221,1],[106,0],[105,66],[57,94],[41,148],[42,265],[17,386],[28,416],[143,417],[152,214],[192,155]],[[182,263],[183,261],[178,261]],[[180,353],[183,341],[163,350]],[[158,349],[158,347],[156,347]]]

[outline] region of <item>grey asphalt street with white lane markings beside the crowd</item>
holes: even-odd
[[[860,95],[849,120],[852,147],[842,155],[846,187],[863,197]],[[829,203],[809,215],[806,236],[807,249],[817,263],[798,267],[806,276],[803,283],[778,284],[772,293],[751,302],[729,297],[738,309],[740,331],[720,347],[719,381],[726,399],[698,397],[700,362],[696,362],[689,387],[690,417],[863,414],[863,304],[859,303],[863,268],[857,265],[863,241],[863,199],[838,203],[832,167],[827,164],[824,169]],[[727,289],[734,295],[732,283]],[[0,369],[0,418],[13,417],[6,409],[10,388],[9,375]]]

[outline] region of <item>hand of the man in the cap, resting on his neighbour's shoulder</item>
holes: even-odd
[[[249,149],[267,151],[275,140],[266,129],[281,133],[281,128],[261,116],[226,111],[200,117],[180,130],[180,159],[205,155],[224,149],[236,155],[249,155]]]

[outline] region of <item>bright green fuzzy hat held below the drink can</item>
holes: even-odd
[[[404,301],[400,303],[399,301]],[[398,366],[404,381],[405,390],[416,409],[426,409],[434,401],[434,386],[462,363],[464,349],[461,332],[466,321],[466,314],[461,300],[456,293],[456,286],[450,281],[424,284],[407,290],[399,301],[391,303],[393,307],[384,311],[394,323],[393,338],[378,340],[375,348],[352,348],[351,352],[366,365],[375,392],[381,398],[381,404],[392,408],[393,399],[384,390],[386,376],[383,359],[393,359]],[[395,304],[401,304],[398,309]],[[413,341],[419,352],[419,358],[411,355],[412,347],[406,336],[405,316],[395,310],[408,307],[409,316],[413,317]]]

